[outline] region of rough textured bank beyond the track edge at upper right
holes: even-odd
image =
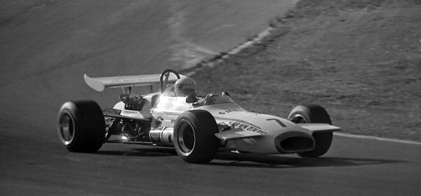
[[[321,104],[352,134],[421,141],[421,1],[298,2],[272,34],[194,76],[243,108]]]

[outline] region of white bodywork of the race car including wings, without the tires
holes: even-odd
[[[163,75],[161,80],[162,77]],[[166,82],[174,83],[175,79],[167,76]],[[85,81],[93,89],[102,91],[105,87],[156,85],[160,80],[158,74],[153,74],[105,78],[89,78],[85,75]],[[246,111],[229,95],[224,94],[208,94],[206,97],[196,97],[197,102],[187,103],[187,97],[176,97],[171,88],[168,88],[161,90],[161,93],[145,94],[143,98],[145,104],[141,111],[128,110],[123,102],[115,104],[114,109],[121,111],[120,115],[124,118],[149,120],[151,132],[154,133],[156,130],[172,131],[178,116],[185,111],[208,111],[215,118],[217,125],[229,127],[228,130],[219,130],[215,134],[215,137],[220,139],[222,148],[234,148],[237,151],[264,154],[312,151],[314,132],[340,130],[340,127],[333,125],[295,124],[285,118]],[[172,137],[170,134],[168,136]],[[281,147],[281,142],[290,138],[303,139],[308,145],[297,149]],[[171,141],[171,138],[168,138],[168,141]],[[166,145],[171,146],[171,143],[167,142]]]

